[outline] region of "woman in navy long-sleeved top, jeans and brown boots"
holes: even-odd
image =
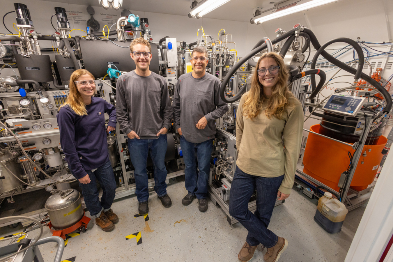
[[[115,130],[116,109],[105,100],[94,97],[94,76],[78,69],[70,77],[70,93],[57,114],[60,142],[68,167],[82,189],[84,203],[95,224],[112,231],[119,218],[110,206],[115,197],[116,181],[109,161],[107,133]],[[109,115],[105,129],[105,113]],[[103,194],[98,197],[96,180]]]

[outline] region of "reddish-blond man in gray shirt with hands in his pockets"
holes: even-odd
[[[136,69],[118,78],[116,113],[120,129],[128,137],[130,159],[134,166],[135,194],[139,214],[149,212],[149,188],[146,170],[150,152],[154,165],[154,190],[164,207],[172,205],[167,194],[166,133],[171,126],[172,106],[165,79],[150,71],[151,46],[143,38],[130,44]]]

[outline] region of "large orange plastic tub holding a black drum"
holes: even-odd
[[[311,126],[310,130],[319,134],[320,125]],[[360,157],[351,182],[351,188],[361,191],[373,183],[383,157],[381,152],[386,142],[386,137],[380,136],[375,145],[364,146],[362,152],[365,151],[367,156],[362,155]],[[371,149],[371,152],[369,152],[369,149]],[[353,155],[355,150],[326,137],[309,133],[303,158],[303,172],[338,191],[337,185],[340,176],[349,166],[348,152]],[[363,164],[362,161],[364,161]]]

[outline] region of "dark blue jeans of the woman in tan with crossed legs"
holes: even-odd
[[[284,179],[284,175],[276,178],[263,178],[247,174],[236,168],[231,185],[229,213],[236,218],[247,230],[247,243],[265,247],[277,244],[278,237],[267,229],[273,208],[277,199],[277,192]],[[248,201],[257,189],[257,210],[255,214],[248,210]]]

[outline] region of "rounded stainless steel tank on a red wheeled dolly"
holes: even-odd
[[[81,194],[75,189],[57,191],[46,200],[45,209],[53,229],[71,227],[83,217]]]

